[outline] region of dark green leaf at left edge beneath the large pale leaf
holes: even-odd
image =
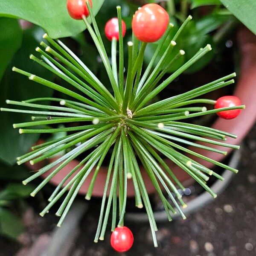
[[[0,18],[0,81],[11,61],[13,55],[20,48],[22,42],[22,30],[17,20]]]

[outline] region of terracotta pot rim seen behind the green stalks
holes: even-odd
[[[240,66],[240,75],[239,81],[236,86],[236,90],[234,91],[234,95],[238,96],[241,99],[242,104],[246,105],[246,109],[242,111],[242,113],[233,120],[224,120],[217,119],[215,123],[212,125],[212,128],[224,130],[233,134],[237,134],[238,138],[232,139],[228,138],[227,143],[231,144],[239,144],[241,140],[246,136],[250,128],[253,126],[256,120],[256,37],[246,28],[242,28],[238,33],[238,42],[239,48],[241,52],[241,66]],[[220,146],[214,146],[215,148],[223,149]],[[214,160],[221,162],[224,158],[221,154],[216,154],[211,151],[205,151],[198,148],[190,148],[193,151],[196,151],[200,154],[204,154],[207,157],[210,157]],[[230,153],[232,149],[228,149]],[[54,159],[52,159],[54,160]],[[51,160],[51,161],[52,161]],[[204,164],[205,166],[211,168],[213,165],[204,160],[198,160],[199,163]],[[78,164],[78,160],[73,160],[67,166],[65,166],[57,175],[55,175],[50,181],[54,185],[58,185],[60,181]],[[182,169],[177,167],[172,163],[171,160],[166,160],[166,163],[170,166],[172,171],[175,173],[177,178],[181,182],[186,182],[191,180],[191,177],[186,174]],[[43,163],[44,164],[44,163]],[[32,170],[38,170],[41,166],[35,165],[29,167]],[[50,170],[49,172],[51,172]],[[47,177],[49,172],[42,175],[42,177]],[[151,183],[148,175],[145,172],[145,169],[142,167],[141,172],[143,174],[143,179],[147,188],[148,193],[153,193],[155,191],[154,186]],[[99,175],[97,177],[94,189],[93,196],[101,197],[104,189],[104,184],[107,175],[107,168],[102,167]],[[87,192],[87,188],[90,184],[90,180],[93,176],[93,172],[88,176],[87,180],[81,187],[80,193],[85,194]],[[134,196],[134,187],[132,180],[128,180],[128,196]]]

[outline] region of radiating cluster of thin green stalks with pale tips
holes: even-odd
[[[90,9],[90,5],[88,5],[88,8]],[[117,7],[117,14],[119,18],[119,28],[122,28],[121,9],[119,6]],[[116,64],[117,41],[112,41],[111,63],[102,42],[95,18],[93,15],[90,15],[90,17],[92,26],[86,17],[84,17],[84,23],[86,24],[102,58],[103,64],[105,65],[105,69],[111,81],[113,94],[67,46],[59,40],[49,38],[49,36],[45,34],[44,39],[46,39],[46,41],[41,42],[41,48],[36,48],[41,59],[34,55],[30,55],[30,58],[60,77],[63,80],[61,84],[64,85],[66,82],[69,86],[71,85],[75,87],[76,91],[79,93],[13,67],[13,71],[28,76],[30,80],[39,84],[66,94],[70,97],[70,100],[57,98],[37,98],[22,102],[7,100],[7,104],[32,109],[42,109],[43,111],[9,108],[1,108],[1,111],[34,115],[32,116],[32,122],[17,123],[13,125],[14,128],[20,128],[19,132],[21,134],[68,132],[67,136],[41,145],[35,145],[32,147],[31,152],[21,157],[17,157],[17,163],[19,165],[27,161],[33,165],[50,157],[54,157],[59,152],[65,150],[65,154],[57,160],[54,160],[47,166],[39,169],[38,172],[23,181],[23,184],[26,185],[36,177],[43,175],[55,167],[55,169],[31,193],[32,196],[35,196],[38,191],[42,189],[52,177],[54,177],[54,175],[64,168],[64,166],[68,165],[73,159],[85,151],[89,149],[91,150],[91,153],[81,160],[81,162],[72,169],[56,187],[49,198],[49,204],[40,213],[41,216],[44,216],[62,195],[65,194],[66,197],[56,212],[56,215],[60,216],[58,226],[61,226],[79,189],[87,179],[88,175],[93,172],[93,178],[90,181],[90,186],[86,195],[86,199],[90,200],[93,193],[93,186],[101,169],[102,162],[111,149],[112,153],[108,165],[105,186],[102,184],[102,186],[104,186],[104,192],[99,215],[99,224],[94,241],[97,242],[98,239],[104,239],[111,210],[111,230],[114,230],[116,224],[117,226],[123,225],[127,198],[127,179],[132,179],[135,192],[135,205],[138,208],[145,207],[152,230],[154,245],[157,246],[155,236],[157,225],[154,220],[153,211],[140,171],[138,159],[144,166],[160,196],[170,221],[172,220],[170,212],[179,212],[182,218],[186,218],[181,209],[182,207],[185,208],[186,204],[183,202],[177,189],[180,188],[184,190],[184,187],[177,177],[175,177],[164,159],[162,159],[162,155],[172,160],[172,162],[183,169],[184,172],[193,177],[195,181],[201,184],[201,186],[215,198],[216,194],[209,188],[209,186],[207,186],[207,180],[209,180],[209,176],[211,175],[220,180],[222,180],[222,177],[193,160],[189,155],[221,166],[231,172],[236,173],[238,171],[223,163],[219,163],[204,155],[191,151],[186,146],[192,145],[193,147],[203,148],[218,154],[226,154],[226,151],[212,148],[211,145],[220,145],[238,149],[239,146],[230,145],[224,142],[226,137],[236,138],[236,136],[213,128],[190,124],[189,122],[180,122],[180,120],[186,121],[186,119],[195,116],[244,108],[244,106],[238,106],[207,110],[204,105],[214,105],[215,101],[197,98],[205,93],[233,84],[233,77],[236,76],[236,74],[230,74],[189,92],[152,103],[152,100],[158,93],[160,93],[166,86],[171,86],[170,83],[177,78],[177,76],[211,50],[210,45],[207,45],[203,49],[199,49],[188,62],[183,64],[182,67],[178,68],[171,76],[163,81],[162,78],[166,75],[167,70],[169,70],[178,58],[185,54],[183,50],[180,50],[172,61],[166,63],[166,57],[172,52],[172,49],[176,45],[175,40],[192,17],[189,16],[186,19],[176,35],[172,38],[171,43],[163,55],[160,56],[160,60],[156,67],[153,67],[154,61],[158,57],[166,38],[170,36],[173,27],[173,25],[170,24],[163,38],[161,38],[153,58],[145,68],[144,73],[142,70],[146,43],[139,42],[133,35],[132,41],[128,42],[128,71],[125,76],[126,79],[124,78],[123,72],[122,29],[119,31],[118,72]],[[38,102],[41,102],[41,104]],[[55,104],[47,105],[47,102],[55,102]],[[56,106],[56,102],[60,103],[60,106]],[[193,106],[194,104],[196,104],[196,107]],[[78,122],[79,124],[82,124],[83,122],[86,123],[77,126]],[[88,122],[90,123],[88,124]],[[53,124],[64,123],[70,124],[68,127],[62,128],[53,128],[51,126]],[[31,129],[28,127],[35,128]],[[201,145],[200,142],[208,143],[209,146]],[[161,188],[165,190],[167,196],[162,192]],[[109,195],[107,195],[108,190]],[[119,215],[117,215],[117,212],[119,212]]]

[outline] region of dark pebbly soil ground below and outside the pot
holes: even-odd
[[[125,255],[131,256],[253,256],[256,255],[256,126],[247,136],[241,149],[239,174],[218,199],[183,220],[158,225],[158,248],[153,247],[148,224],[126,223],[134,233],[134,246]],[[93,203],[93,202],[92,202]],[[72,242],[68,256],[115,256],[105,241],[93,243],[99,202],[94,201],[83,217],[79,235]],[[56,223],[53,215],[38,218],[27,213],[29,235],[20,244],[0,238],[0,256],[29,255],[24,251],[38,235],[50,235]],[[25,219],[25,220],[26,220]],[[32,229],[32,231],[31,231]],[[69,241],[67,241],[69,243]],[[23,253],[22,253],[23,250]],[[42,255],[42,254],[41,254]],[[39,256],[37,253],[31,256]],[[61,255],[62,256],[62,255]]]

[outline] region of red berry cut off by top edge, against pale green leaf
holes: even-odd
[[[67,10],[69,15],[75,20],[82,20],[82,16],[89,16],[89,10],[86,2],[89,1],[93,6],[92,0],[67,0]]]

